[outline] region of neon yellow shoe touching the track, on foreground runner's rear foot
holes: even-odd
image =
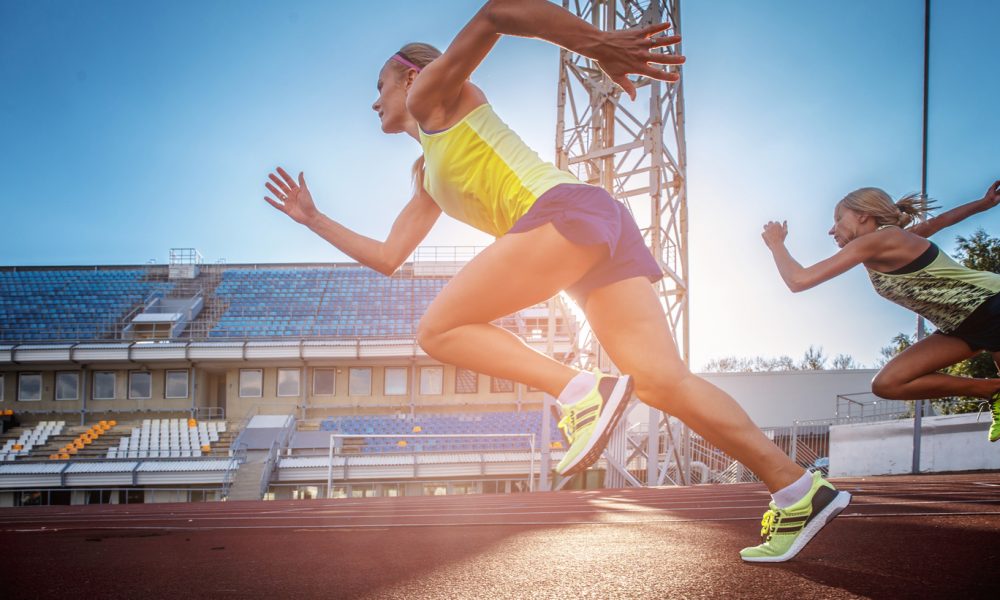
[[[740,558],[747,562],[791,560],[851,503],[849,493],[838,492],[818,471],[812,476],[812,488],[802,500],[788,508],[771,503],[760,522],[761,544],[740,550]]]

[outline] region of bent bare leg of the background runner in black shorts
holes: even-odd
[[[976,379],[937,373],[978,354],[957,337],[931,335],[890,360],[872,380],[872,392],[890,400],[927,400],[946,396],[989,398],[1000,379]],[[1000,360],[1000,352],[994,353]]]

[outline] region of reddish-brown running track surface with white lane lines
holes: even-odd
[[[842,479],[749,565],[759,484],[3,509],[6,598],[998,598],[1000,473]],[[990,594],[990,591],[993,591]]]

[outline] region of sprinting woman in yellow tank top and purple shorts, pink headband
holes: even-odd
[[[660,65],[683,57],[656,52],[680,38],[669,25],[602,32],[545,0],[488,2],[441,53],[408,44],[378,78],[372,105],[385,133],[420,142],[409,203],[379,242],[320,213],[305,178],[270,175],[265,200],[358,262],[391,274],[442,212],[496,242],[444,287],[420,321],[417,340],[435,359],[512,379],[557,397],[570,443],[563,475],[600,456],[633,391],[684,420],[736,457],[774,496],[762,543],[744,560],[782,561],[850,500],[819,474],[792,462],[723,391],[691,374],[677,353],[650,282],[662,272],[631,214],[599,187],[542,161],[493,112],[468,79],[501,35],[539,38],[589,57],[632,99],[628,75],[677,81]],[[566,290],[587,314],[602,346],[624,373],[580,372],[526,345],[492,321]]]

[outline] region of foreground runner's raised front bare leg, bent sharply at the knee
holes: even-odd
[[[548,300],[606,254],[603,245],[568,241],[552,224],[507,234],[441,290],[420,320],[417,341],[441,362],[558,396],[577,371],[490,321]]]

